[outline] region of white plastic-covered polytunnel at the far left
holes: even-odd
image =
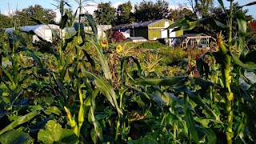
[[[36,26],[21,26],[18,27],[17,30],[21,30],[23,32],[30,32],[31,30],[34,31],[33,35],[33,42],[39,41],[40,38],[52,42],[53,40],[53,30],[57,32],[57,34],[60,33],[60,28],[57,25],[49,24],[49,25],[36,25]],[[6,34],[10,34],[10,38],[14,37],[14,28],[7,28],[5,31]]]

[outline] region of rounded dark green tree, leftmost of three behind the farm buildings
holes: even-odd
[[[111,2],[98,4],[98,10],[94,10],[96,22],[101,25],[114,24],[115,9],[111,6]]]

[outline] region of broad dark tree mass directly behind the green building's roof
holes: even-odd
[[[156,3],[143,0],[139,5],[134,6],[134,17],[136,22],[150,21],[154,19],[169,18],[169,4],[166,1],[158,0]]]

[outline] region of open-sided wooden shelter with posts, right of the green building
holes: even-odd
[[[211,36],[206,34],[184,34],[179,37],[170,37],[172,44],[177,44],[177,41],[180,41],[180,45],[184,47],[188,46],[198,46],[198,48],[209,48],[210,47],[210,38]]]

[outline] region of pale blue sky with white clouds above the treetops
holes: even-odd
[[[78,7],[78,3],[75,2],[75,0],[69,0],[70,5],[75,10]],[[79,0],[77,0],[79,1]],[[85,0],[82,0],[85,1]],[[152,2],[156,2],[156,0],[151,0]],[[240,6],[245,5],[249,2],[254,2],[256,0],[234,0],[234,2],[238,2]],[[94,2],[94,3],[93,3]],[[119,4],[123,2],[128,2],[128,0],[94,0],[94,1],[86,1],[87,4],[90,4],[92,6],[86,6],[86,10],[90,13],[93,13],[94,10],[97,9],[97,3],[100,2],[111,2],[112,5],[116,8]],[[137,4],[139,2],[142,2],[142,0],[130,0],[133,4]],[[190,6],[188,0],[166,0],[166,2],[169,2],[171,7],[178,7],[178,5],[183,6]],[[223,0],[224,5],[226,7],[229,7],[229,2],[226,2],[226,0]],[[86,4],[85,3],[85,4]],[[13,10],[21,10],[24,8],[27,8],[28,6],[34,6],[35,4],[41,5],[43,8],[56,10],[56,7],[53,4],[57,4],[54,0],[0,0],[0,10],[2,14],[8,14],[9,11]],[[215,6],[218,6],[218,1],[215,0],[214,2]],[[249,12],[247,14],[253,15],[254,19],[256,19],[256,5],[255,6],[246,6],[244,9],[248,9]],[[60,14],[57,14],[57,19],[60,18]]]

